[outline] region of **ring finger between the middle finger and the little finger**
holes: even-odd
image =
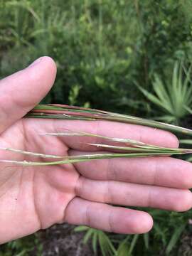
[[[92,181],[81,176],[75,191],[80,198],[119,206],[152,207],[175,211],[185,211],[192,207],[192,193],[187,189],[119,181]]]

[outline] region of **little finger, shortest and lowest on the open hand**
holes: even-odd
[[[153,225],[153,220],[148,213],[90,202],[81,198],[75,198],[70,202],[65,211],[65,221],[123,234],[146,233]]]

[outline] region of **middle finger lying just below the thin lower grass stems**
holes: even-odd
[[[87,152],[70,150],[69,154],[75,156]],[[172,188],[192,187],[192,164],[171,157],[99,159],[74,165],[82,176],[93,180],[124,181]]]

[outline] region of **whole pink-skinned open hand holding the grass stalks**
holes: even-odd
[[[102,142],[42,135],[63,129],[178,146],[174,134],[133,124],[23,119],[46,96],[55,75],[54,61],[43,57],[0,81],[0,146],[67,156],[90,154],[98,149],[85,143]],[[0,150],[0,159],[24,158]],[[151,216],[121,206],[185,211],[192,206],[191,187],[192,165],[169,156],[48,167],[0,163],[0,243],[63,222],[114,233],[146,233],[153,225]]]

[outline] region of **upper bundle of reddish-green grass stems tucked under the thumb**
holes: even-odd
[[[180,132],[182,134],[192,135],[191,129],[178,127],[173,124],[166,124],[154,120],[132,117],[126,114],[116,114],[101,110],[92,110],[82,107],[72,107],[68,105],[38,105],[31,110],[26,117],[28,118],[49,118],[49,119],[75,119],[75,120],[107,120],[113,122],[124,122],[128,124],[139,124],[158,129],[164,129],[171,132]]]

